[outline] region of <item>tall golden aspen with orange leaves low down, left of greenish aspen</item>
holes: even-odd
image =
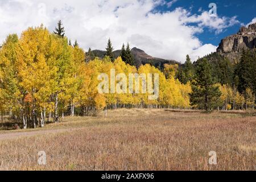
[[[34,127],[39,123],[44,127],[48,98],[51,95],[53,80],[47,65],[48,44],[51,35],[46,28],[28,28],[24,31],[17,49],[19,85],[26,95],[31,97],[27,102],[31,107],[30,117]],[[25,95],[25,96],[26,96]],[[43,114],[44,112],[44,114]]]

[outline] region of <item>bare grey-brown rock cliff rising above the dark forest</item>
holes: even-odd
[[[237,34],[221,40],[218,53],[240,53],[243,49],[256,48],[256,23],[241,27]]]

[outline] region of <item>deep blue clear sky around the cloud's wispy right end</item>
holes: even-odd
[[[171,2],[171,1],[167,1]],[[239,28],[241,27],[241,24],[248,24],[251,22],[253,18],[256,16],[256,1],[251,0],[218,0],[218,1],[209,1],[209,0],[193,0],[193,1],[187,1],[187,0],[178,0],[171,7],[167,6],[158,6],[157,10],[159,11],[173,11],[177,7],[183,7],[185,9],[188,9],[191,11],[192,14],[199,14],[199,10],[205,10],[209,11],[208,8],[210,3],[216,3],[217,5],[217,14],[218,16],[237,16],[237,20],[240,21],[238,24],[234,24],[234,26],[226,28],[223,32],[220,34],[215,34],[214,31],[209,30],[209,28],[204,28],[204,32],[199,34],[199,39],[204,44],[213,44],[215,46],[218,46],[220,43],[220,40],[222,38],[225,38],[226,36],[235,34]]]

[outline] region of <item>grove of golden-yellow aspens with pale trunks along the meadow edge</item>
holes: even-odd
[[[85,52],[71,46],[68,38],[52,34],[47,28],[30,27],[9,35],[0,51],[0,112],[8,113],[23,127],[44,127],[65,115],[97,115],[102,109],[121,107],[187,108],[191,86],[164,75],[149,64],[138,69],[118,57],[106,56],[86,63]],[[100,94],[97,79],[101,73],[158,73],[159,98],[148,94]],[[170,73],[172,74],[172,73]],[[128,88],[127,88],[128,89]]]

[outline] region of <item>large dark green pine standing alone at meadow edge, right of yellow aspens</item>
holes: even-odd
[[[191,104],[207,111],[221,105],[221,92],[212,77],[212,68],[207,59],[197,63],[195,81],[192,82]]]

